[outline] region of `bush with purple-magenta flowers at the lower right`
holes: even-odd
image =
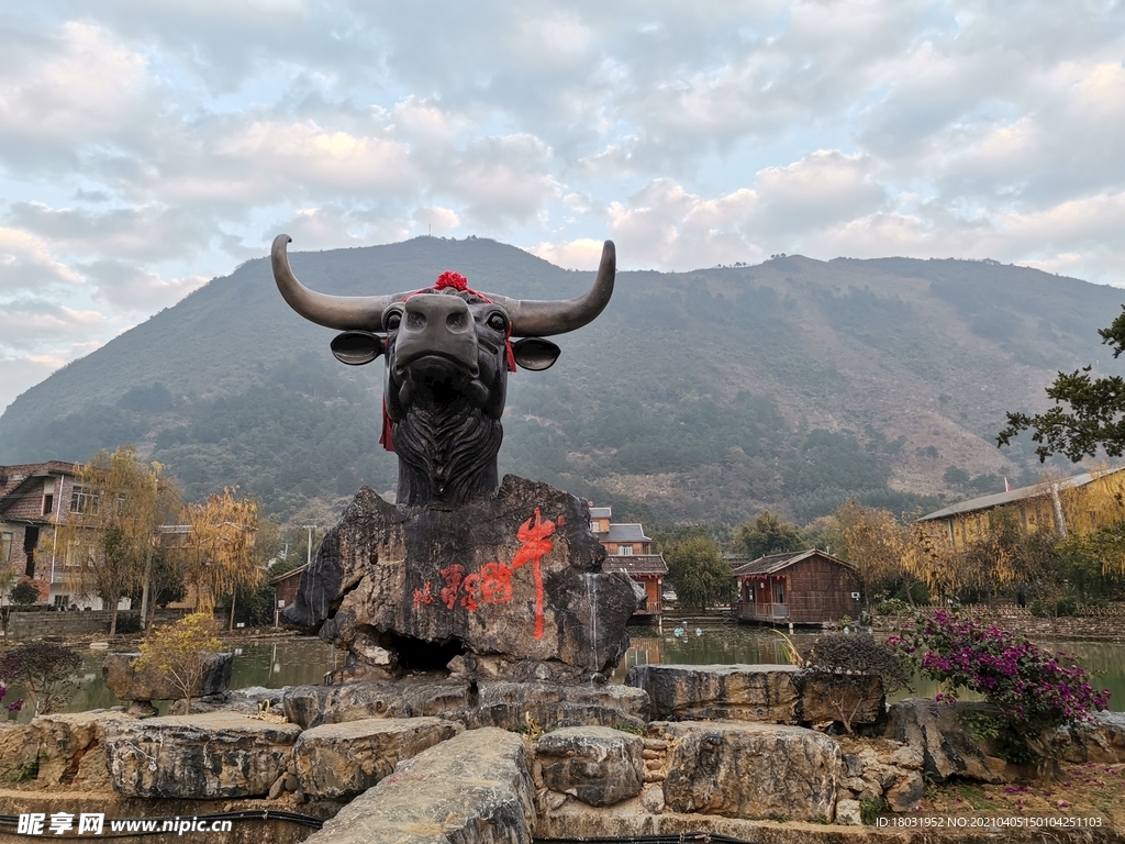
[[[1095,691],[1083,668],[1060,662],[1064,654],[943,610],[932,618],[917,616],[886,644],[922,676],[951,690],[937,700],[956,703],[960,690],[966,689],[996,706],[999,715],[974,713],[971,726],[982,737],[998,739],[1011,762],[1041,755],[1032,747],[1041,745],[1046,730],[1084,720],[1109,703],[1109,691]]]

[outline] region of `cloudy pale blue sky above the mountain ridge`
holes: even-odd
[[[0,8],[0,407],[280,232],[1125,285],[1118,1]]]

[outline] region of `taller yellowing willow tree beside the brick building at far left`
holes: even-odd
[[[133,446],[101,450],[74,467],[71,510],[55,528],[54,546],[73,567],[80,593],[109,604],[110,635],[122,598],[141,585],[158,526],[174,512],[174,484],[162,475],[163,467],[141,460]]]

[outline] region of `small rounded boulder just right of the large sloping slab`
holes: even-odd
[[[644,782],[640,736],[609,727],[564,727],[536,744],[543,784],[587,806],[612,806],[637,797]]]

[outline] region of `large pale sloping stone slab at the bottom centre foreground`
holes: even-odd
[[[534,790],[514,733],[468,730],[399,762],[307,844],[531,844]]]

